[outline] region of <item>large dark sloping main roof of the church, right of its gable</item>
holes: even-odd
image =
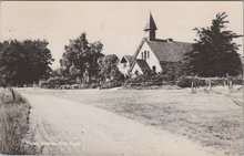
[[[179,62],[183,60],[184,53],[192,51],[192,44],[186,42],[167,42],[163,40],[149,41],[149,44],[160,62]]]

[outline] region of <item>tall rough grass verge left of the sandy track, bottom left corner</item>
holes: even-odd
[[[22,144],[29,129],[29,103],[9,89],[0,89],[0,153],[34,154],[34,147]]]

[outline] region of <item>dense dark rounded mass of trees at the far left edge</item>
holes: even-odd
[[[22,86],[47,77],[53,59],[45,40],[0,43],[0,86]]]

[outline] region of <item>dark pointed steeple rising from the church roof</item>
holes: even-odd
[[[145,24],[144,31],[145,31],[145,37],[152,41],[155,40],[156,33],[155,31],[157,30],[156,24],[153,20],[152,13],[150,12],[150,18],[148,23]]]

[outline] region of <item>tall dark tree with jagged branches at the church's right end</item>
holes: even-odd
[[[217,13],[211,27],[195,28],[196,35],[193,51],[185,54],[183,71],[199,76],[237,75],[242,72],[238,46],[233,39],[240,38],[226,30],[227,14]]]

